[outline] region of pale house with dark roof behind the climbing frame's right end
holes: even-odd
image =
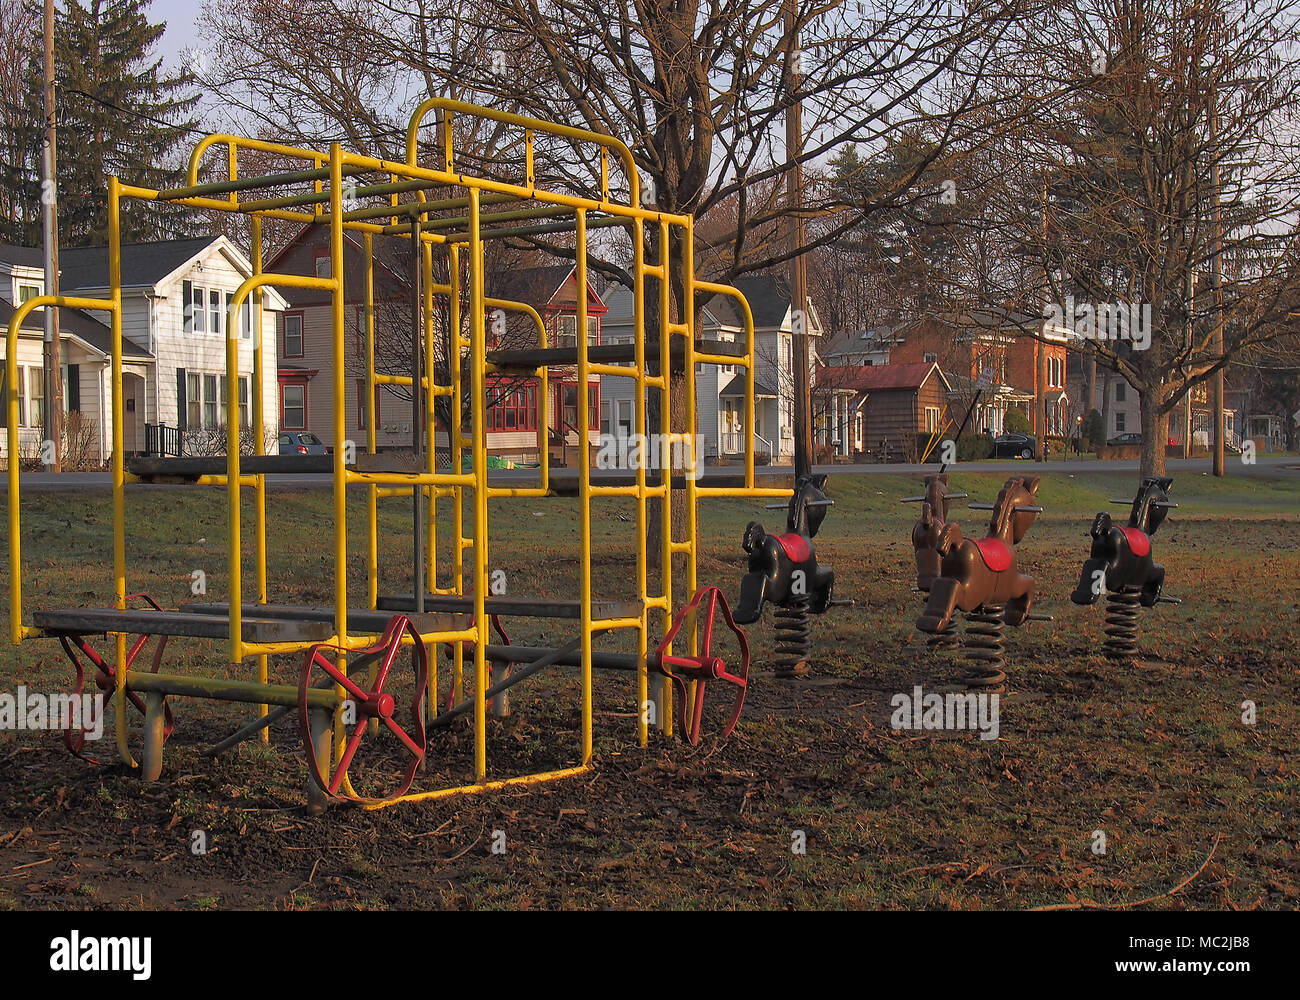
[[[794,373],[793,329],[789,285],[784,276],[751,274],[733,282],[754,313],[754,427],[745,428],[745,375],[736,365],[696,365],[697,433],[705,438],[708,456],[736,456],[745,451],[748,433],[754,436],[757,453],[771,455],[774,464],[794,458]],[[632,342],[632,293],[614,285],[606,294],[610,311],[604,316],[604,343]],[[816,364],[816,345],[822,324],[811,299],[807,303],[810,365]],[[714,295],[701,312],[702,339],[742,342],[745,326],[736,300]],[[811,384],[811,369],[809,372]],[[606,377],[601,393],[601,427],[606,433],[630,433],[632,393],[636,384]]]

